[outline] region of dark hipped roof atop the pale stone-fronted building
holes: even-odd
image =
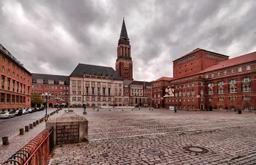
[[[103,75],[107,77],[113,77],[113,79],[120,79],[122,77],[112,67],[102,67],[98,65],[88,65],[79,63],[77,67],[73,70],[70,76],[83,76],[84,74],[89,75]]]

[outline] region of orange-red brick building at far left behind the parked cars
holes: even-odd
[[[31,73],[0,44],[0,108],[13,111],[30,107]]]

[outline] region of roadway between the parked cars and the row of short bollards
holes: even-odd
[[[47,114],[52,113],[52,111],[54,110],[56,110],[56,108],[47,108]],[[22,116],[16,116],[15,118],[1,118],[0,143],[2,143],[3,136],[9,136],[10,138],[12,138],[12,136],[19,134],[19,129],[25,128],[26,125],[29,125],[29,123],[33,123],[36,120],[39,120],[40,118],[44,117],[44,115],[45,110],[38,111],[36,113],[24,114]]]

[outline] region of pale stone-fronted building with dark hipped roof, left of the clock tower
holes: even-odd
[[[124,80],[111,67],[79,63],[69,79],[70,106],[124,104]]]

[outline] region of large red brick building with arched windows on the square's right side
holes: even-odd
[[[195,49],[173,61],[175,76],[168,84],[159,86],[159,89],[163,89],[164,95],[164,89],[172,86],[174,96],[161,98],[161,107],[209,111],[255,109],[256,52],[227,58],[225,55]]]

